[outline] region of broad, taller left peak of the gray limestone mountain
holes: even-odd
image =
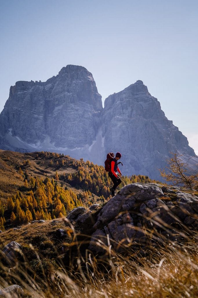
[[[95,140],[101,111],[101,95],[91,73],[67,65],[46,82],[19,81],[10,88],[0,116],[1,135],[12,146],[17,142],[13,136],[35,148],[42,143],[46,148],[46,143],[56,148],[83,147]],[[23,148],[22,142],[16,147]]]

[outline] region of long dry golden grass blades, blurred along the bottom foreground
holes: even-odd
[[[123,256],[113,252],[111,246],[104,248],[106,255],[101,258],[88,250],[83,255],[79,252],[70,268],[59,258],[56,265],[46,269],[38,254],[39,272],[25,262],[9,271],[2,266],[1,286],[16,283],[32,298],[198,297],[196,233],[185,244],[170,241],[150,247],[144,257],[136,252]]]

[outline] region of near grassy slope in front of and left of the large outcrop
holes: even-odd
[[[60,228],[66,231],[63,238],[57,235]],[[156,243],[144,256],[138,251],[121,255],[106,247],[101,258],[89,251],[81,254],[78,236],[76,227],[71,229],[63,219],[3,232],[0,248],[17,241],[23,253],[9,271],[0,261],[1,288],[18,284],[27,298],[197,297],[196,232],[182,245]]]

